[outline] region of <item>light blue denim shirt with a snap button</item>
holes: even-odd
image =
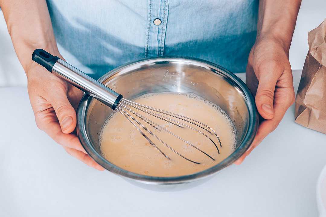
[[[129,61],[196,57],[245,72],[258,0],[47,0],[59,51],[94,78]]]

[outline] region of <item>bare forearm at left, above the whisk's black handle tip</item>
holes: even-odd
[[[45,0],[0,0],[16,54],[25,72],[32,63],[34,49],[58,54]]]

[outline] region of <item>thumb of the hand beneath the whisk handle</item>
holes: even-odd
[[[63,133],[71,133],[74,131],[77,123],[76,111],[70,104],[67,93],[60,92],[56,93],[52,97],[51,104],[59,120],[61,130]]]

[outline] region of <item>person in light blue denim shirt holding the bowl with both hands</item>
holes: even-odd
[[[294,102],[289,47],[301,0],[0,0],[28,79],[37,127],[70,155],[104,170],[74,133],[83,92],[31,60],[47,50],[93,78],[128,61],[160,55],[197,57],[246,71],[261,116],[244,158]],[[58,48],[59,47],[59,48]],[[59,52],[60,50],[60,52]],[[61,55],[62,54],[62,55]]]

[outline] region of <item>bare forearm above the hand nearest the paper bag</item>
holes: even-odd
[[[260,0],[257,39],[271,38],[289,52],[301,0]]]

